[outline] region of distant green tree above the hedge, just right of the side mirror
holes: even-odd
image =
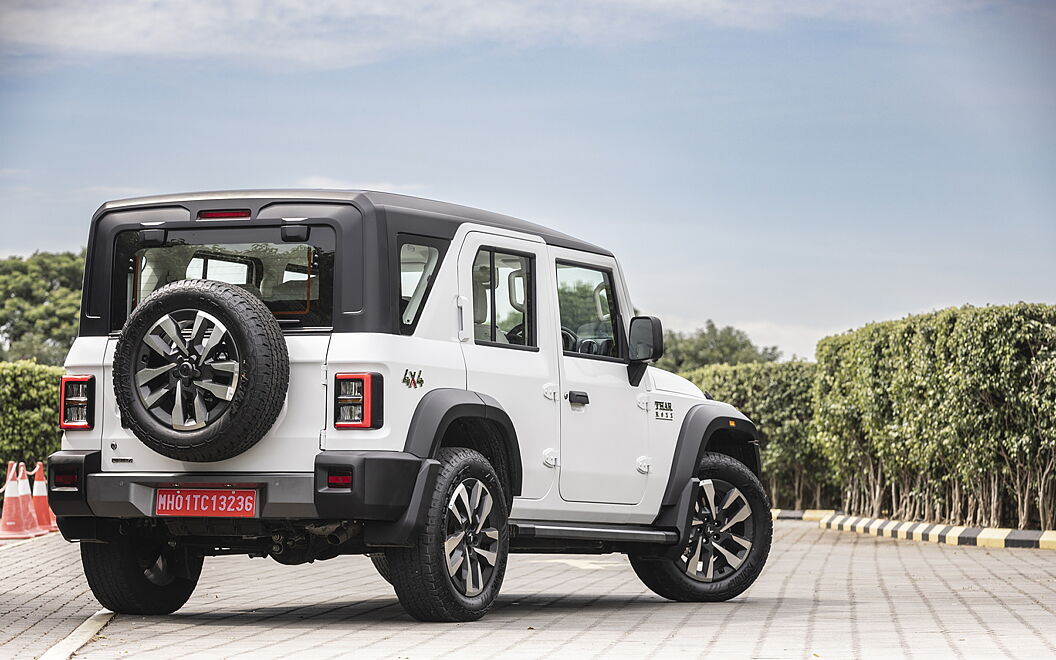
[[[781,356],[777,346],[756,346],[744,331],[718,327],[710,319],[692,333],[667,331],[663,342],[664,354],[657,366],[675,373],[708,364],[775,362]]]

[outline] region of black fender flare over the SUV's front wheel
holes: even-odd
[[[749,450],[746,452],[749,457],[748,468],[755,476],[761,476],[758,430],[748,418],[733,417],[724,413],[725,411],[714,406],[698,403],[682,418],[682,428],[678,433],[678,441],[671,460],[667,487],[654,525],[674,527],[684,536],[697,466],[700,465],[704,452],[711,449],[719,431],[743,439]]]

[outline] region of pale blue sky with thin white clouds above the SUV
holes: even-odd
[[[108,199],[367,187],[552,225],[789,357],[1056,302],[1056,3],[0,2],[0,253]]]

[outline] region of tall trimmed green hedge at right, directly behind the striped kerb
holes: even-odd
[[[1056,306],[949,308],[817,346],[812,441],[850,513],[1056,527]]]

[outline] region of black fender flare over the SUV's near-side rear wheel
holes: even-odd
[[[419,458],[435,458],[445,433],[456,419],[464,418],[484,419],[498,427],[509,456],[509,496],[520,495],[523,470],[516,430],[498,401],[487,394],[454,388],[427,393],[411,417],[403,451]]]

